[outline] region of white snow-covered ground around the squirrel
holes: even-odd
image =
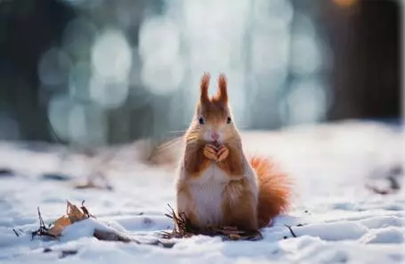
[[[103,163],[113,190],[75,189],[71,181],[45,180],[44,172],[84,178],[83,156],[64,163],[55,150],[33,150],[0,144],[0,263],[401,263],[405,261],[403,188],[377,195],[385,177],[402,165],[402,134],[372,123],[297,127],[282,132],[244,132],[249,153],[272,156],[296,181],[294,206],[259,242],[223,242],[195,236],[176,241],[172,249],[103,242],[93,238],[90,221],[65,230],[61,241],[17,237],[12,228],[38,228],[36,207],[49,223],[65,213],[66,199],[85,204],[99,220],[139,239],[151,239],[173,223],[164,216],[174,205],[174,171],[139,161],[139,148],[120,148]],[[98,166],[98,165],[96,165]],[[76,178],[75,178],[76,177]],[[400,180],[401,182],[401,180]],[[402,182],[401,182],[402,183]],[[292,237],[284,225],[292,225]],[[295,227],[297,224],[304,226]],[[53,252],[44,253],[44,248]],[[62,250],[77,254],[59,259]]]

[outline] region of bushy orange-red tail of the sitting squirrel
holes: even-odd
[[[271,219],[288,209],[291,196],[291,181],[287,175],[277,172],[274,164],[262,156],[250,159],[259,184],[259,205],[257,208],[259,227],[269,224]]]

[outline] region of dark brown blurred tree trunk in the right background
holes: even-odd
[[[318,1],[334,53],[329,119],[401,116],[401,4]]]

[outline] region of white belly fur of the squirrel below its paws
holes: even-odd
[[[190,182],[201,225],[219,225],[223,220],[223,189],[230,178],[215,164],[210,165],[196,180]]]

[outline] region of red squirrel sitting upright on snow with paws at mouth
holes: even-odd
[[[288,209],[288,177],[263,156],[247,159],[228,103],[227,78],[208,97],[210,74],[200,81],[197,108],[184,135],[176,186],[176,213],[195,228],[257,230]]]

